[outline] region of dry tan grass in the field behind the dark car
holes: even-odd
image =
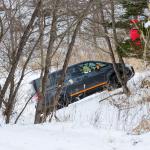
[[[105,41],[98,41],[99,47],[95,47],[93,44],[78,40],[76,44],[74,45],[74,50],[70,59],[69,64],[75,64],[86,60],[100,60],[100,61],[106,61],[111,62],[110,56],[108,53],[103,52],[103,50],[108,52],[107,45]],[[102,48],[102,49],[101,49]],[[62,49],[62,50],[61,50]],[[64,50],[67,50],[66,45],[62,45],[62,47],[59,49],[59,51],[56,52],[56,54],[53,57],[52,65],[54,67],[59,68],[63,65],[63,61],[65,59],[66,52]],[[116,57],[117,58],[117,57]],[[142,71],[144,70],[144,63],[141,59],[136,58],[125,58],[125,63],[131,64],[135,71]],[[23,66],[25,59],[22,59],[20,62],[20,66]],[[40,69],[40,52],[36,51],[36,58],[32,59],[29,63],[29,67],[33,70]]]

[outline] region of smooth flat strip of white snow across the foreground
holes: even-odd
[[[72,123],[0,127],[2,150],[149,150],[150,134],[131,136]],[[144,146],[144,147],[143,147]]]

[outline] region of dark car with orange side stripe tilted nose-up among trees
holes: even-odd
[[[123,76],[121,64],[117,64],[120,74]],[[46,98],[43,104],[50,104],[58,87],[58,80],[61,77],[62,70],[49,74],[49,80],[46,88]],[[125,73],[129,80],[134,75],[132,66],[125,66]],[[33,80],[33,87],[36,93],[39,93],[40,79]],[[93,94],[97,91],[103,91],[106,88],[115,89],[120,87],[112,63],[102,61],[85,61],[67,68],[64,86],[62,88],[59,106],[62,108],[80,98]]]

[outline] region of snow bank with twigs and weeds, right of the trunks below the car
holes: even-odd
[[[57,116],[62,121],[72,121],[74,124],[131,131],[143,117],[149,116],[149,103],[141,104],[141,102],[144,97],[150,97],[150,89],[140,88],[142,80],[147,76],[150,76],[149,71],[136,73],[128,82],[132,92],[130,97],[125,94],[115,95],[122,89],[111,93],[108,91],[96,93],[59,110]],[[99,102],[104,98],[106,98],[104,101]]]

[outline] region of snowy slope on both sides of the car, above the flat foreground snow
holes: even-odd
[[[88,124],[98,128],[105,129],[117,129],[130,131],[134,126],[136,126],[143,116],[149,115],[149,104],[135,105],[136,101],[142,99],[145,95],[150,96],[150,89],[141,89],[141,81],[146,77],[150,76],[150,72],[136,73],[135,76],[128,82],[128,86],[133,93],[129,98],[124,94],[116,95],[110,97],[114,93],[118,93],[121,89],[117,89],[113,92],[104,91],[101,93],[93,94],[86,97],[76,103],[69,105],[68,107],[59,110],[57,116],[61,121],[71,121],[74,124],[82,125]],[[32,74],[27,76],[28,81],[35,79],[37,74]],[[12,118],[14,122],[18,113],[21,111],[23,105],[28,100],[27,93],[30,93],[30,84],[25,83],[20,89],[20,93],[24,94],[22,99],[19,99],[18,104],[15,108],[16,113]],[[22,94],[20,94],[22,95]],[[103,98],[110,97],[99,103]],[[131,109],[118,109],[115,103],[130,102]],[[128,108],[128,107],[127,107]],[[22,114],[18,123],[28,124],[33,123],[35,113],[35,100],[32,100],[27,106],[25,112]]]

